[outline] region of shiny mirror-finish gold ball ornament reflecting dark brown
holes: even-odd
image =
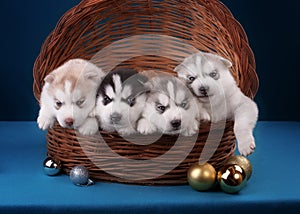
[[[237,164],[222,167],[218,171],[217,179],[221,189],[226,193],[237,193],[247,183],[245,170]]]

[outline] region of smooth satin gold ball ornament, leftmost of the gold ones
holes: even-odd
[[[209,163],[195,163],[187,172],[189,185],[198,191],[206,191],[213,187],[216,176],[215,168]]]

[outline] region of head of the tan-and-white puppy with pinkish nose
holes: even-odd
[[[82,59],[69,60],[46,76],[49,105],[60,126],[78,128],[83,124],[95,106],[103,76],[100,68]]]

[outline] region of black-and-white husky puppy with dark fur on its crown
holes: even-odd
[[[103,130],[121,135],[136,133],[136,122],[144,109],[147,78],[136,70],[117,68],[103,79],[95,114]]]

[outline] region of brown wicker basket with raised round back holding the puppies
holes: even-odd
[[[34,95],[39,101],[45,76],[71,58],[91,60],[105,71],[118,65],[176,75],[174,67],[195,50],[231,60],[238,86],[254,97],[258,78],[246,34],[218,0],[83,0],[45,40],[33,69]],[[201,124],[194,137],[163,135],[148,145],[135,143],[148,137],[124,139],[104,131],[84,137],[56,124],[47,134],[48,156],[66,173],[85,165],[95,180],[170,185],[186,183],[187,169],[199,160],[220,168],[235,150],[232,121]]]

